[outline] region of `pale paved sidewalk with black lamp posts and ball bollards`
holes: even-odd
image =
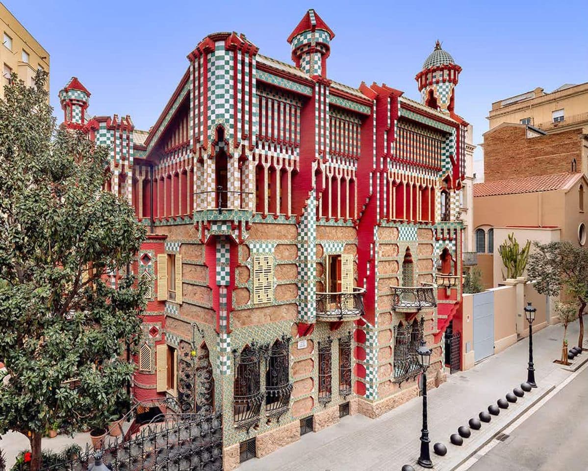
[[[577,323],[568,329],[570,343],[577,340]],[[467,372],[448,376],[447,382],[428,394],[431,455],[436,470],[451,470],[482,446],[500,429],[562,382],[572,372],[562,369],[559,359],[563,327],[547,326],[533,335],[533,360],[537,389],[501,409],[492,422],[481,430],[472,430],[463,446],[454,446],[449,436],[470,417],[487,410],[527,378],[529,342],[523,339],[503,352],[483,360]],[[588,352],[574,360],[575,365],[588,359]],[[292,445],[271,455],[243,463],[239,471],[400,471],[410,464],[416,470],[422,420],[422,400],[410,400],[377,419],[355,415],[319,433],[308,433]],[[435,442],[445,443],[447,455],[433,453]]]

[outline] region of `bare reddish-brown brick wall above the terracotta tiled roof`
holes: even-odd
[[[581,170],[580,130],[527,139],[524,126],[503,126],[484,135],[484,181]]]

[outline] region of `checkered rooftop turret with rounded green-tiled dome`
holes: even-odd
[[[453,113],[453,91],[461,71],[462,68],[437,41],[435,49],[423,64],[423,70],[415,77],[421,101],[430,108]]]

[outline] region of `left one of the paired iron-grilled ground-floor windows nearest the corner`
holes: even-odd
[[[236,423],[251,426],[259,420],[263,393],[259,389],[259,350],[249,345],[235,358],[233,413]]]

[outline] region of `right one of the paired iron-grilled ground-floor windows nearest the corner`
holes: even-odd
[[[288,339],[276,340],[266,359],[265,410],[270,416],[281,416],[290,405],[292,383],[288,345]]]

